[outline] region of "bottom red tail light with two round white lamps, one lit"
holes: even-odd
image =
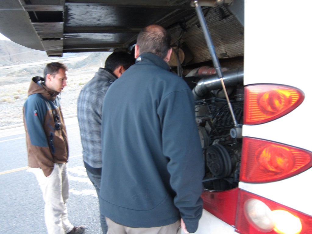
[[[311,233],[312,217],[268,200],[239,191],[236,229],[241,234]]]

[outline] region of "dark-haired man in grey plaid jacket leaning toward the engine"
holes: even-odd
[[[113,52],[107,57],[105,68],[99,68],[95,76],[81,89],[78,97],[77,118],[83,161],[98,196],[102,171],[101,122],[104,96],[110,85],[134,62],[134,56],[127,52]],[[106,234],[105,217],[101,215],[100,220],[103,234]]]

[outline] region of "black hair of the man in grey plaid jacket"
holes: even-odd
[[[134,56],[131,56],[126,51],[115,51],[107,57],[105,68],[110,71],[115,71],[118,66],[123,66],[124,69],[127,70],[134,63]]]

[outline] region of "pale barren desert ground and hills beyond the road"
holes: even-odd
[[[4,48],[4,49],[3,49]],[[43,76],[45,65],[59,61],[68,66],[68,82],[61,94],[65,116],[76,115],[76,101],[80,89],[103,67],[110,52],[65,54],[48,57],[44,51],[0,40],[0,129],[22,124],[22,108],[33,76]],[[27,56],[25,56],[27,55]]]

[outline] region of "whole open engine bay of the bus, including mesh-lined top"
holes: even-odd
[[[202,12],[222,67],[226,93],[196,14],[168,27],[175,51],[168,64],[188,82],[196,100],[195,115],[205,163],[204,188],[225,191],[236,188],[239,182],[242,138],[233,129],[243,123],[244,28],[227,4],[202,7]]]

